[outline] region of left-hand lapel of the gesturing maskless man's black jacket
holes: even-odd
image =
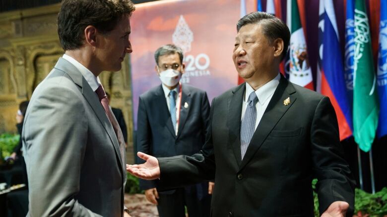
[[[241,116],[243,94],[245,93],[245,83],[233,90],[231,98],[228,100],[227,127],[229,130],[229,142],[235,155],[238,165],[241,165]]]

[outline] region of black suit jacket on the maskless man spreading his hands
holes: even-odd
[[[334,201],[348,202],[353,212],[354,180],[329,98],[281,78],[241,160],[244,92],[242,84],[214,98],[200,154],[158,159],[159,187],[215,175],[213,217],[313,217],[311,182],[318,178],[321,213]]]

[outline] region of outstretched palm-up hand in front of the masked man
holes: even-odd
[[[127,164],[127,171],[142,179],[156,179],[160,177],[159,161],[150,155],[142,152],[137,152],[137,156],[146,162],[143,164],[129,165]]]

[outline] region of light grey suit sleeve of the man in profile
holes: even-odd
[[[30,105],[22,136],[30,216],[99,216],[75,198],[88,130],[81,99],[71,88],[49,84]]]

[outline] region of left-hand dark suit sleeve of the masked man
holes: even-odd
[[[138,112],[137,112],[137,151],[145,154],[152,154],[151,150],[152,135],[149,125],[148,115],[146,112],[146,106],[144,100],[139,97],[138,100]],[[144,163],[144,160],[137,157],[138,164]],[[139,180],[140,188],[147,190],[156,187],[154,180]]]

